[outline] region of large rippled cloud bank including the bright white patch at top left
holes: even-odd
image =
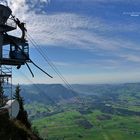
[[[100,1],[105,2],[105,0]],[[39,3],[46,5],[51,2],[50,0],[7,0],[7,2],[13,13],[27,23],[28,33],[39,45],[73,47],[90,51],[132,49],[133,46],[134,50],[139,50],[133,42],[107,37],[112,32],[136,31],[139,25],[108,25],[99,18],[74,13],[48,15],[35,12],[36,9],[39,9]],[[31,6],[33,7],[32,11],[30,10]]]

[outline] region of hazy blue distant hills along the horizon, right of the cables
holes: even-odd
[[[119,94],[124,92],[136,93],[140,92],[140,83],[125,84],[90,84],[90,85],[72,85],[73,89],[85,95],[101,95],[101,94]]]

